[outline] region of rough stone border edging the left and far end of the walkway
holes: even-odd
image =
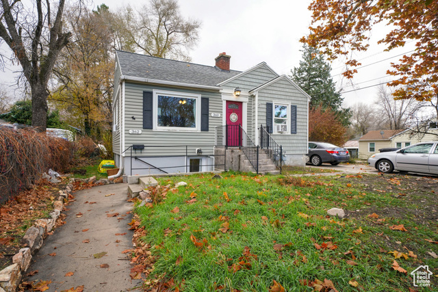
[[[27,229],[25,236],[21,242],[27,245],[27,248],[22,248],[12,257],[12,265],[5,267],[0,271],[0,292],[15,292],[21,282],[23,273],[29,268],[32,255],[38,252],[42,247],[47,233],[51,232],[55,226],[56,220],[60,217],[64,202],[68,200],[68,195],[73,192],[73,183],[81,181],[83,183],[95,183],[96,185],[109,185],[112,183],[121,183],[122,178],[112,181],[107,178],[96,180],[96,176],[90,178],[70,178],[68,185],[64,190],[60,190],[60,196],[53,202],[53,212],[50,213],[50,218],[37,219],[31,228]]]

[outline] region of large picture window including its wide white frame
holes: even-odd
[[[154,126],[158,130],[198,131],[201,120],[198,94],[154,91]]]

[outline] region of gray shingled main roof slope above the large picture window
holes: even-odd
[[[122,75],[195,85],[216,86],[240,71],[116,51]]]

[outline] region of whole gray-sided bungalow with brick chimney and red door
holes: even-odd
[[[113,152],[125,174],[235,169],[236,151],[257,171],[268,159],[304,164],[310,96],[265,62],[240,72],[230,58],[205,66],[116,51]]]

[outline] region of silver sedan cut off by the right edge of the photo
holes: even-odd
[[[400,150],[376,153],[368,159],[368,165],[379,172],[420,172],[438,174],[438,142],[422,142]]]

